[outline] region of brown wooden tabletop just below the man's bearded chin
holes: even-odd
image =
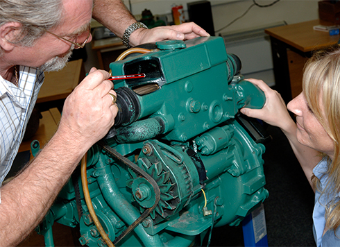
[[[44,84],[37,96],[37,103],[66,99],[84,77],[82,59],[68,62],[67,66],[60,71],[46,72]]]

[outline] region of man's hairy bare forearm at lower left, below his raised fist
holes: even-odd
[[[0,246],[17,246],[42,221],[84,154],[55,135],[19,176],[1,187]]]

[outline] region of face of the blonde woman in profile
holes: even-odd
[[[323,109],[323,105],[320,105],[320,107]],[[298,126],[296,138],[298,142],[333,158],[334,143],[310,110],[304,92],[290,101],[287,108],[296,114],[296,125]]]

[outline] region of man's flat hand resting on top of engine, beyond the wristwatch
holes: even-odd
[[[151,29],[139,28],[130,35],[130,44],[136,46],[162,40],[191,40],[201,36],[210,35],[194,22],[187,22],[180,25],[158,26]]]

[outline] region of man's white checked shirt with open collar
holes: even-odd
[[[0,185],[5,179],[24,137],[44,72],[20,66],[16,87],[0,76]]]

